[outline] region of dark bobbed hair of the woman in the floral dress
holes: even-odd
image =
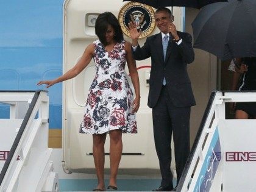
[[[107,44],[107,41],[105,39],[105,34],[107,32],[108,25],[112,26],[114,29],[114,32],[115,32],[114,39],[116,40],[116,42],[121,43],[121,41],[124,40],[124,35],[122,32],[121,26],[116,16],[110,12],[104,12],[99,14],[95,23],[95,34],[98,36],[101,43],[104,44],[104,46]]]

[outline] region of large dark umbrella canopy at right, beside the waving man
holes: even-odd
[[[230,0],[205,6],[192,23],[194,48],[221,60],[256,57],[255,13],[255,0]]]

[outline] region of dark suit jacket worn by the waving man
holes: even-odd
[[[182,43],[177,45],[170,35],[166,51],[166,61],[163,59],[162,34],[155,34],[146,39],[143,47],[137,46],[133,51],[135,60],[151,57],[151,75],[149,79],[148,106],[153,108],[157,104],[161,92],[163,77],[172,104],[176,107],[190,107],[196,104],[187,73],[187,64],[193,62],[194,51],[191,35],[177,32]]]

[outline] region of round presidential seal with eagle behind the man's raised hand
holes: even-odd
[[[133,21],[137,25],[137,29],[141,29],[139,38],[147,37],[155,29],[155,11],[154,9],[139,2],[128,2],[119,11],[118,21],[124,34],[130,37],[126,27],[128,23]]]

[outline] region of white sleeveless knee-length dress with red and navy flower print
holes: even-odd
[[[89,89],[79,132],[102,134],[118,129],[123,133],[137,133],[136,117],[132,113],[133,93],[124,72],[124,41],[116,43],[110,52],[99,40],[93,44],[96,75]]]

